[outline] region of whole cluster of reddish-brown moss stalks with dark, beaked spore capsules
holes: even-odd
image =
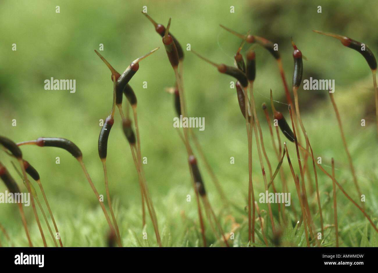
[[[143,13],[143,12],[142,12]],[[183,73],[183,61],[184,61],[184,51],[181,47],[178,40],[170,33],[169,29],[171,26],[171,19],[169,19],[167,26],[163,26],[159,23],[156,23],[147,13],[143,13],[150,22],[153,23],[155,30],[160,36],[162,37],[162,42],[164,45],[164,49],[166,51],[168,60],[170,65],[172,66],[174,77],[175,77],[175,86],[170,88],[171,93],[174,94],[174,106],[177,116],[182,116],[183,118],[189,117],[187,113],[187,105],[185,100],[185,92],[184,92],[184,73]],[[318,185],[318,170],[321,170],[324,174],[329,177],[329,182],[332,184],[333,189],[333,217],[334,223],[332,227],[335,230],[335,245],[339,246],[339,234],[338,234],[338,216],[337,216],[337,203],[336,203],[336,186],[341,190],[341,192],[349,199],[349,201],[356,206],[361,213],[366,217],[366,219],[370,222],[373,229],[378,233],[378,228],[376,224],[373,222],[372,218],[369,216],[367,211],[364,208],[364,205],[359,205],[359,202],[354,201],[356,197],[358,199],[361,197],[361,190],[358,184],[358,179],[355,174],[355,169],[353,167],[352,157],[350,156],[347,142],[345,140],[344,131],[342,127],[341,117],[338,112],[338,108],[336,106],[335,99],[333,94],[330,92],[330,100],[335,110],[336,119],[338,122],[338,126],[341,132],[341,140],[345,147],[345,152],[347,154],[347,158],[349,160],[349,168],[353,176],[353,182],[356,188],[356,196],[353,198],[344,190],[341,183],[336,180],[335,177],[335,164],[334,160],[332,159],[332,173],[328,173],[324,170],[324,168],[315,160],[314,152],[311,147],[311,143],[309,140],[309,136],[307,131],[305,130],[304,122],[301,118],[301,112],[299,109],[299,102],[298,102],[298,89],[302,83],[302,75],[303,75],[303,56],[302,52],[297,48],[296,44],[291,39],[291,43],[293,45],[293,59],[294,59],[294,72],[293,72],[293,96],[294,102],[291,99],[291,92],[289,91],[287,82],[285,80],[285,73],[283,71],[282,60],[278,50],[274,47],[274,44],[259,36],[251,35],[249,32],[245,35],[239,34],[235,31],[232,31],[225,26],[222,28],[226,29],[227,31],[231,32],[232,34],[236,35],[237,37],[242,39],[242,43],[240,47],[237,49],[234,59],[234,66],[229,66],[225,64],[217,64],[211,62],[210,60],[204,58],[200,54],[195,51],[191,51],[201,59],[205,60],[206,62],[210,63],[211,65],[215,66],[218,71],[222,74],[227,74],[231,77],[234,77],[236,80],[235,89],[237,100],[240,106],[240,111],[245,119],[245,126],[246,126],[246,135],[247,135],[247,145],[246,151],[248,150],[248,205],[246,206],[246,213],[248,214],[248,242],[246,245],[248,246],[258,246],[258,245],[266,245],[266,246],[277,246],[280,245],[280,236],[282,236],[282,230],[287,228],[288,226],[291,227],[293,230],[293,223],[292,219],[295,219],[296,225],[295,230],[300,229],[304,232],[304,240],[307,247],[311,246],[325,246],[324,243],[324,230],[328,227],[325,227],[323,221],[323,214],[322,214],[322,204],[320,201],[320,193],[319,193],[319,185]],[[367,63],[370,66],[373,74],[373,85],[374,85],[374,92],[375,92],[375,102],[376,102],[376,115],[377,115],[377,132],[378,132],[378,89],[376,86],[376,78],[375,73],[377,69],[376,59],[372,53],[372,51],[366,47],[366,50],[361,51],[361,43],[355,40],[352,40],[348,37],[344,37],[341,35],[335,35],[330,33],[324,33],[320,31],[315,31],[321,34],[325,34],[328,36],[336,37],[339,39],[344,46],[350,47],[359,51],[364,58],[366,59]],[[242,48],[245,43],[252,44],[248,50],[246,51],[245,59],[241,54]],[[277,160],[278,164],[275,170],[273,170],[269,159],[265,144],[263,140],[264,133],[261,129],[260,121],[257,116],[257,109],[255,105],[254,99],[254,81],[256,80],[256,52],[255,48],[256,45],[261,46],[268,50],[274,59],[277,62],[280,76],[282,79],[283,87],[285,90],[285,96],[287,99],[288,105],[288,114],[290,116],[290,120],[288,121],[285,119],[283,113],[276,110],[274,107],[274,100],[273,100],[273,92],[270,90],[270,105],[271,105],[271,114],[269,113],[268,106],[263,103],[262,110],[265,114],[266,122],[268,124],[269,133],[271,137],[271,147],[275,152],[275,159]],[[141,143],[140,143],[140,135],[139,135],[139,124],[138,124],[138,111],[137,111],[137,99],[136,94],[133,91],[132,87],[130,86],[130,80],[139,70],[139,62],[146,57],[148,57],[153,52],[157,51],[159,48],[155,48],[146,55],[139,57],[132,61],[129,66],[124,70],[122,74],[117,72],[112,65],[110,65],[107,60],[95,50],[96,54],[101,58],[101,60],[107,65],[111,72],[111,80],[113,82],[113,104],[110,111],[110,114],[105,119],[104,125],[101,128],[99,139],[98,139],[98,153],[100,160],[102,162],[103,171],[104,171],[104,182],[105,182],[105,190],[106,190],[106,200],[108,205],[108,210],[110,211],[110,216],[108,214],[107,208],[105,208],[104,202],[100,201],[100,196],[98,191],[96,190],[95,185],[93,184],[90,175],[85,168],[83,162],[83,155],[81,150],[70,140],[60,138],[60,137],[39,137],[36,140],[28,140],[19,143],[15,143],[14,141],[8,139],[7,137],[0,136],[0,146],[3,148],[5,153],[9,156],[14,157],[15,160],[19,163],[19,168],[21,170],[20,176],[24,181],[28,193],[31,194],[31,204],[33,207],[33,213],[36,219],[36,223],[38,225],[40,235],[43,241],[43,245],[46,247],[46,239],[45,235],[43,234],[42,226],[39,221],[37,209],[35,202],[37,203],[38,207],[40,208],[43,217],[45,219],[46,225],[48,226],[48,230],[50,235],[53,238],[54,244],[58,247],[56,242],[56,237],[50,227],[50,224],[47,220],[45,212],[42,209],[42,205],[37,196],[37,192],[33,187],[32,183],[28,179],[28,175],[36,181],[39,186],[39,189],[42,193],[43,200],[48,208],[48,213],[54,224],[54,229],[56,234],[59,234],[58,227],[54,220],[53,213],[51,211],[50,205],[48,203],[45,191],[43,190],[42,183],[40,176],[35,168],[23,158],[22,151],[20,150],[20,146],[22,145],[36,145],[39,147],[57,147],[62,148],[68,151],[75,159],[79,162],[82,171],[88,183],[90,184],[91,189],[93,190],[96,198],[99,201],[99,204],[102,208],[104,213],[105,219],[108,223],[110,234],[110,245],[117,244],[119,247],[122,247],[122,234],[120,233],[120,228],[117,224],[115,213],[113,212],[112,202],[110,199],[109,187],[108,187],[108,175],[107,175],[107,145],[108,145],[108,137],[112,126],[115,122],[115,112],[116,106],[119,110],[119,116],[122,122],[122,129],[125,135],[125,138],[129,144],[130,151],[133,157],[133,162],[135,165],[136,173],[138,174],[138,182],[140,187],[140,195],[141,195],[141,224],[144,227],[147,222],[146,220],[146,207],[147,213],[150,216],[151,224],[155,231],[156,236],[156,244],[158,246],[162,246],[160,231],[158,226],[158,219],[156,217],[154,205],[152,202],[152,197],[150,196],[148,185],[146,182],[146,176],[143,170],[143,163],[142,163],[142,156],[141,156]],[[127,107],[125,109],[122,108],[122,101],[123,96],[127,99]],[[132,116],[130,116],[130,108],[132,111]],[[271,119],[273,117],[273,119]],[[135,126],[132,126],[132,119]],[[273,131],[272,123],[276,127],[276,132]],[[299,125],[299,126],[298,126]],[[133,128],[134,127],[134,128]],[[299,129],[300,128],[300,129]],[[204,156],[204,152],[201,148],[200,143],[198,142],[197,137],[195,136],[194,132],[191,128],[184,127],[183,132],[178,130],[178,135],[182,140],[184,147],[186,149],[186,157],[188,163],[188,177],[190,177],[192,182],[192,187],[195,192],[196,197],[196,205],[198,209],[198,219],[199,219],[199,229],[201,233],[201,246],[206,247],[209,246],[206,240],[206,226],[211,228],[212,233],[214,234],[217,243],[220,246],[229,247],[232,246],[232,236],[231,234],[235,232],[235,229],[225,230],[223,221],[225,219],[220,219],[215,212],[214,209],[208,199],[207,191],[205,190],[204,181],[201,176],[199,164],[197,162],[197,157],[194,154],[192,149],[192,143],[195,145],[195,150],[198,151],[201,161],[204,163],[204,167],[208,171],[209,175],[214,182],[215,188],[217,189],[217,196],[222,200],[225,207],[235,207],[235,205],[229,200],[226,196],[225,192],[222,189],[221,184],[219,183],[214,171],[212,170],[210,164],[206,160]],[[289,149],[286,142],[281,142],[280,132],[282,132],[285,139],[293,142],[295,144],[295,158],[294,162],[291,161],[291,157],[289,155]],[[274,140],[274,135],[277,137],[277,141]],[[303,140],[304,138],[304,140]],[[270,188],[273,189],[274,194],[277,194],[277,189],[281,189],[282,192],[288,192],[288,183],[290,181],[294,182],[297,198],[299,199],[299,204],[301,207],[300,214],[297,215],[296,209],[293,206],[290,207],[290,211],[285,209],[285,205],[280,203],[277,204],[278,209],[278,219],[274,217],[272,207],[274,204],[268,202],[268,217],[267,221],[270,224],[266,224],[263,220],[261,215],[261,210],[258,206],[258,202],[256,201],[256,193],[254,191],[254,183],[252,179],[252,170],[253,170],[253,162],[252,162],[252,143],[253,139],[256,141],[257,146],[257,154],[259,157],[259,165],[260,170],[263,178],[263,183],[265,187],[265,191],[268,191]],[[288,167],[290,169],[291,178],[285,177],[285,173],[283,172],[283,162],[286,161]],[[312,161],[312,162],[311,162]],[[310,167],[312,163],[312,168]],[[298,164],[299,167],[299,174],[295,173],[293,165]],[[265,166],[268,166],[268,173],[265,171]],[[17,167],[14,166],[16,169]],[[281,185],[275,185],[274,180],[279,174]],[[312,177],[315,180],[315,189],[313,188]],[[0,162],[0,178],[5,183],[6,187],[8,188],[9,192],[11,193],[20,193],[20,189],[17,185],[15,179],[9,174],[7,168]],[[291,180],[292,179],[292,180]],[[331,197],[330,197],[331,198]],[[317,206],[311,206],[312,202],[316,202]],[[324,206],[324,204],[323,204]],[[26,217],[23,211],[22,204],[18,203],[20,216],[22,220],[23,227],[25,229],[25,234],[29,242],[29,246],[33,247],[32,238],[29,234],[28,230],[28,223],[26,222]],[[204,210],[204,213],[203,213]],[[257,212],[257,216],[256,216]],[[277,221],[278,220],[278,221]],[[256,224],[256,221],[258,223]],[[30,223],[29,223],[30,225]],[[259,225],[259,227],[257,226]],[[223,228],[222,228],[223,226]],[[197,227],[195,227],[197,228]],[[6,233],[5,227],[0,224],[0,229],[2,233],[5,234],[7,240],[11,242],[11,238],[9,238],[8,234]],[[270,231],[273,236],[267,235],[267,230]],[[295,233],[295,231],[293,231]],[[319,233],[321,236],[318,236]],[[257,238],[256,238],[257,235]],[[33,238],[35,239],[35,238]],[[58,236],[60,247],[63,247],[62,239]],[[1,242],[0,242],[1,244]],[[12,242],[11,242],[12,244]]]

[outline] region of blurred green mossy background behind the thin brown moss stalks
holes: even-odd
[[[60,6],[60,13],[56,13],[56,5]],[[99,120],[105,119],[111,110],[113,85],[110,71],[93,49],[98,50],[99,44],[104,44],[101,54],[115,69],[123,72],[132,60],[160,46],[152,56],[141,61],[139,71],[130,81],[138,97],[142,156],[147,157],[144,170],[164,244],[198,245],[198,216],[186,151],[172,126],[175,116],[173,97],[164,91],[175,84],[174,72],[164,52],[161,37],[141,14],[143,6],[147,6],[148,14],[158,23],[166,25],[169,17],[172,17],[170,30],[181,45],[186,47],[190,43],[192,49],[217,63],[233,65],[233,55],[241,42],[220,28],[219,24],[240,33],[251,29],[251,34],[277,43],[289,89],[293,73],[290,37],[293,37],[308,59],[304,61],[303,79],[335,79],[334,97],[342,116],[346,139],[361,191],[366,194],[366,208],[369,213],[373,212],[376,222],[377,142],[369,66],[360,54],[343,47],[338,40],[311,31],[319,29],[347,35],[366,43],[376,53],[376,1],[364,1],[363,4],[333,0],[1,1],[0,134],[15,142],[41,136],[72,140],[81,148],[84,162],[100,194],[105,195],[97,141],[101,130]],[[230,6],[235,7],[235,13],[230,13]],[[318,6],[322,7],[322,13],[317,12]],[[12,51],[13,43],[17,45],[17,51]],[[246,49],[248,45],[244,47],[243,54]],[[230,88],[233,79],[218,73],[217,69],[191,52],[185,51],[185,54],[184,88],[188,114],[205,118],[205,130],[194,131],[229,200],[240,210],[222,207],[211,177],[200,160],[208,196],[225,232],[231,230],[231,222],[226,221],[226,217],[235,217],[240,228],[235,231],[234,245],[245,246],[248,228],[245,222],[247,214],[243,210],[247,205],[248,153],[245,121],[240,114],[235,89]],[[286,103],[286,99],[273,57],[265,49],[257,47],[256,60],[254,92],[257,113],[272,168],[276,168],[278,162],[260,105],[269,103],[270,89],[275,100]],[[45,90],[44,80],[51,77],[75,79],[76,93]],[[146,89],[143,88],[144,81],[147,82]],[[335,158],[336,178],[356,200],[352,175],[327,93],[301,88],[299,97],[302,119],[316,157],[322,157],[327,171],[331,170],[331,157]],[[276,108],[289,119],[286,107],[285,104],[276,103]],[[268,110],[271,112],[270,107]],[[17,120],[17,126],[12,126],[12,119]],[[361,126],[361,119],[366,119],[365,127]],[[295,146],[288,143],[288,148],[291,156],[295,156]],[[264,186],[255,146],[253,150],[253,181],[257,197],[264,191]],[[40,173],[63,244],[105,246],[107,222],[76,160],[57,148],[25,146],[22,151],[24,158]],[[59,165],[55,163],[57,156],[60,157]],[[230,164],[230,157],[235,158],[234,165]],[[0,153],[0,160],[6,163],[20,187],[26,191],[10,164],[11,158]],[[107,165],[110,193],[122,241],[125,246],[138,245],[136,238],[142,238],[138,177],[129,145],[121,130],[118,112],[109,138]],[[287,161],[284,161],[282,168],[291,190],[291,206],[299,213],[299,201]],[[332,225],[332,202],[328,198],[328,194],[332,195],[332,182],[319,170],[318,175],[324,222],[325,225]],[[280,188],[279,177],[276,184]],[[3,184],[0,184],[0,191],[5,191]],[[187,194],[192,195],[192,202],[186,201]],[[311,203],[316,204],[314,196],[310,199]],[[377,244],[378,238],[371,232],[362,213],[339,191],[338,207],[342,246]],[[10,234],[14,245],[27,246],[17,206],[1,204],[0,208],[0,223]],[[261,204],[260,209],[267,210],[267,207]],[[273,206],[273,209],[277,216],[277,207]],[[43,246],[31,207],[25,210],[33,243]],[[266,213],[263,215],[268,221]],[[40,219],[48,245],[52,246],[42,216]],[[141,244],[156,245],[149,217],[147,219],[149,239]],[[318,218],[315,223],[319,227]],[[271,238],[271,232],[266,232]],[[329,228],[326,234],[325,243],[334,245],[333,228]],[[206,236],[210,244],[219,245],[209,225]],[[282,241],[285,240],[282,238]],[[0,241],[3,245],[8,244],[2,233]],[[302,239],[294,245],[303,243]]]

